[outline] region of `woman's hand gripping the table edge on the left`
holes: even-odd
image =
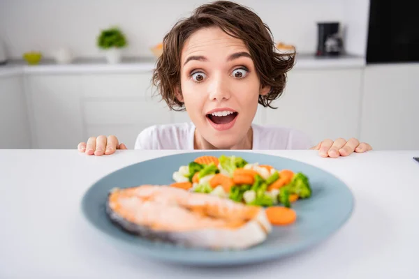
[[[100,135],[98,137],[89,137],[86,142],[78,144],[78,151],[86,153],[87,155],[101,156],[103,154],[110,155],[115,153],[117,149],[127,149],[125,144],[119,144],[115,135],[108,137]]]

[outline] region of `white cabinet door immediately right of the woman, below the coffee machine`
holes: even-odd
[[[359,137],[361,68],[291,70],[283,95],[265,108],[265,123],[297,128],[313,144]]]

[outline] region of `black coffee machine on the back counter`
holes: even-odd
[[[343,42],[339,33],[339,22],[318,22],[316,56],[337,56],[342,53]]]

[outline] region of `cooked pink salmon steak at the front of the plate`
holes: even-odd
[[[106,209],[128,232],[194,248],[246,249],[272,230],[263,207],[170,186],[116,188]]]

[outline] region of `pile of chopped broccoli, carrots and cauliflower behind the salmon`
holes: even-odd
[[[311,197],[309,180],[301,172],[278,171],[271,165],[247,163],[236,156],[200,156],[188,166],[179,167],[173,179],[173,187],[256,206],[281,204],[289,209],[297,199]]]

